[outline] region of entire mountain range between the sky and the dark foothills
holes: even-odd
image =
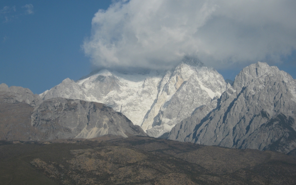
[[[76,82],[67,78],[40,95],[1,84],[0,136],[48,140],[148,134],[295,155],[296,80],[258,62],[227,82],[212,67],[184,58],[171,71],[101,70]]]

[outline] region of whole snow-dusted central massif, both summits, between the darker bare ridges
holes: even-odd
[[[184,58],[173,71],[123,74],[101,70],[77,82],[65,79],[40,94],[101,102],[121,112],[149,136],[159,137],[187,118],[197,107],[225,91],[216,70],[197,59]]]

